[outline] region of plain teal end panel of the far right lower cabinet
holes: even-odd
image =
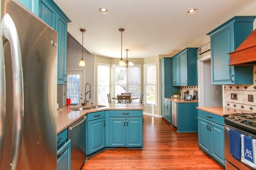
[[[177,132],[197,132],[198,103],[177,103]]]

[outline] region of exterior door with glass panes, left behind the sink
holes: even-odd
[[[71,99],[71,104],[84,102],[84,71],[67,70],[66,74],[65,97]],[[64,101],[65,103],[66,101]]]

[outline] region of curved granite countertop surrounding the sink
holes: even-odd
[[[76,122],[78,119],[82,118],[87,113],[92,113],[96,111],[104,111],[104,110],[143,110],[144,107],[141,104],[100,104],[101,106],[95,109],[87,109],[82,111],[72,111],[70,108],[73,107],[90,107],[90,106],[62,106],[59,107],[58,116],[56,117],[57,122],[57,134],[63,131],[68,126],[72,125],[72,123]],[[99,105],[97,105],[99,106]]]

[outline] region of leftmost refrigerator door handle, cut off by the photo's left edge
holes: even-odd
[[[5,114],[6,114],[6,81],[5,81],[5,64],[4,64],[4,46],[2,36],[0,38],[0,166],[2,164]]]

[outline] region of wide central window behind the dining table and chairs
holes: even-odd
[[[141,66],[113,66],[113,95],[132,93],[132,97],[140,97],[141,92]],[[117,102],[117,101],[115,101]],[[132,100],[139,103],[139,99]]]

